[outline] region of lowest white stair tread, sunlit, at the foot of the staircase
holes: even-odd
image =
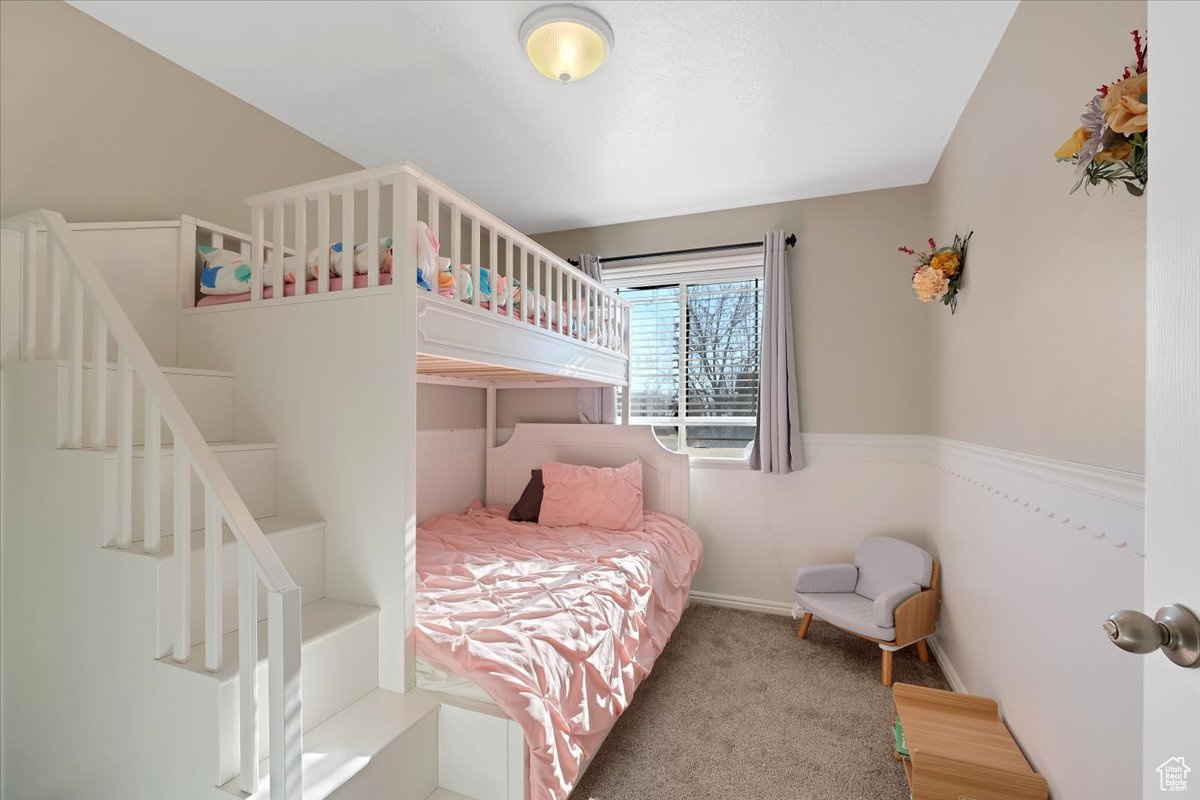
[[[304,800],[331,795],[397,736],[437,710],[438,702],[428,692],[401,694],[377,688],[306,732]],[[268,759],[263,759],[258,770],[262,782],[251,795],[241,792],[236,777],[221,788],[246,800],[265,800],[270,796],[270,772]]]

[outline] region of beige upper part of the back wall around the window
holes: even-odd
[[[556,253],[618,255],[794,233],[790,257],[800,427],[811,433],[923,433],[925,308],[896,246],[929,228],[924,186],[775,203],[536,236]],[[532,398],[535,399],[535,398]],[[552,413],[562,414],[560,401]],[[536,404],[503,405],[534,421]]]

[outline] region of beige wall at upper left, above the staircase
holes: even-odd
[[[227,58],[220,43],[215,58]],[[359,164],[61,2],[0,2],[0,216],[190,213]]]

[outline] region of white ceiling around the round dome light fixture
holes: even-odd
[[[1016,0],[594,0],[617,46],[566,86],[517,42],[536,1],[72,5],[539,233],[925,182]]]

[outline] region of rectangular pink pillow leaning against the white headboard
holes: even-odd
[[[581,467],[548,461],[541,465],[546,486],[538,523],[548,528],[590,525],[605,530],[641,530],[642,462],[624,467]]]

